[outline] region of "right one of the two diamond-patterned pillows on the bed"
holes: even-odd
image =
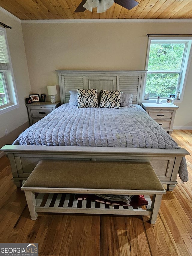
[[[99,107],[120,108],[121,91],[101,90]]]

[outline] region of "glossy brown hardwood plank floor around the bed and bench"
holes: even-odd
[[[192,153],[192,130],[172,137]],[[24,191],[11,181],[9,160],[0,159],[0,243],[38,243],[49,256],[192,255],[192,156],[187,155],[189,181],[163,195],[155,225],[149,217],[39,214],[30,219]]]

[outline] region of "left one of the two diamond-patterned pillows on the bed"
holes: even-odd
[[[77,108],[98,107],[97,89],[77,89]]]

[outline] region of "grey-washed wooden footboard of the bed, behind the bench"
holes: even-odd
[[[42,159],[73,159],[92,161],[149,161],[162,183],[172,191],[185,149],[148,149],[77,146],[21,146],[5,145],[1,148],[10,159],[13,181],[21,187],[37,163]]]

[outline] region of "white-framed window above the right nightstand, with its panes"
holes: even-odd
[[[183,97],[192,39],[149,38],[145,94],[167,98],[180,91]],[[144,97],[143,97],[144,98]]]

